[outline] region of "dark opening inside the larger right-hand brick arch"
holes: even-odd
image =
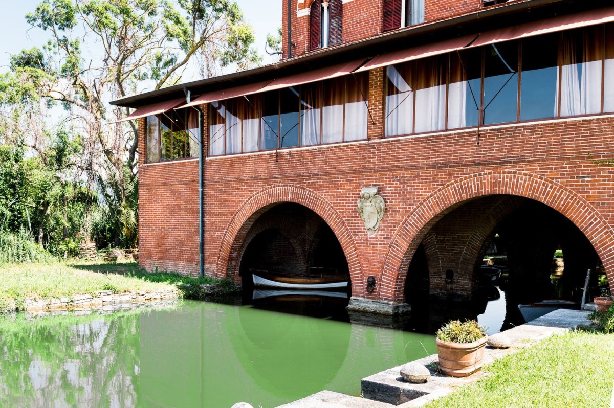
[[[519,304],[564,299],[579,307],[587,272],[589,291],[605,279],[596,250],[572,221],[520,196],[459,202],[419,237],[404,294],[423,317],[414,324],[427,331],[450,318],[481,318],[497,332],[527,320]]]

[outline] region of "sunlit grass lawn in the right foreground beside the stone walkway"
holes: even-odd
[[[553,336],[483,369],[489,377],[426,407],[609,407],[614,335]]]

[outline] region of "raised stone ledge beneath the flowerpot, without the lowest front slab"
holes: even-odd
[[[491,364],[499,358],[515,353],[553,334],[565,333],[569,329],[577,328],[578,325],[588,325],[590,323],[588,314],[589,312],[586,311],[559,309],[524,325],[503,331],[502,333],[505,333],[511,341],[511,348],[486,347],[484,365]],[[484,371],[478,371],[468,377],[448,377],[438,372],[437,362],[437,354],[416,361],[426,366],[431,372],[427,383],[405,382],[400,375],[401,366],[397,366],[362,379],[362,395],[364,398],[383,401],[403,408],[419,407],[453,392],[456,387],[475,382],[488,375]]]

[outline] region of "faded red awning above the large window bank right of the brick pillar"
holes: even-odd
[[[445,54],[462,48],[479,47],[480,45],[495,44],[524,37],[538,36],[540,34],[555,33],[567,29],[593,26],[602,23],[614,22],[614,7],[589,10],[561,17],[548,18],[502,29],[487,31],[486,33],[435,42],[433,44],[419,45],[383,55],[378,55],[356,71],[366,71],[378,67],[418,60],[427,56]]]

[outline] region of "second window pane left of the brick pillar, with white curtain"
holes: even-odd
[[[343,141],[343,104],[345,77],[324,81],[322,106],[322,143]]]

